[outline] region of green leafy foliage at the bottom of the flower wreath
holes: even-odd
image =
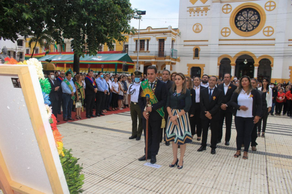
[[[63,167],[64,175],[67,181],[67,185],[70,191],[70,194],[79,194],[83,190],[82,185],[84,184],[84,175],[81,174],[83,169],[82,165],[77,164],[79,159],[76,159],[71,154],[72,149],[67,150],[63,148],[65,154],[64,157],[60,156],[60,161]]]

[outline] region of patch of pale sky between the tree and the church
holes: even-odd
[[[133,9],[146,11],[142,16],[140,29],[152,28],[178,28],[179,0],[130,0]],[[139,28],[139,20],[132,19],[130,25]]]

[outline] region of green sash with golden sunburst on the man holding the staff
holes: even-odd
[[[151,89],[151,87],[149,86],[149,82],[148,80],[146,81],[143,81],[141,83],[141,87],[143,89],[143,92],[141,93],[141,96],[142,97],[146,97],[148,96],[150,98],[150,103],[151,104],[155,104],[158,102],[153,90]],[[156,110],[157,113],[159,113],[161,116],[162,116],[162,123],[161,123],[161,128],[164,128],[165,127],[165,120],[164,120],[164,111],[163,111],[163,107],[160,108],[160,109],[157,109]]]

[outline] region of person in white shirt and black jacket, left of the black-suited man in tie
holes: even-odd
[[[204,86],[201,86],[201,78],[195,77],[193,79],[194,83],[194,98],[195,98],[195,115],[193,116],[194,119],[194,128],[191,128],[192,136],[197,133],[197,141],[201,141],[201,134],[202,134],[202,122],[201,122],[201,106],[200,106],[200,93],[201,90],[204,89]]]

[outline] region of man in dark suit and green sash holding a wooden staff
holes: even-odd
[[[162,117],[156,110],[166,106],[167,91],[166,91],[166,84],[163,81],[160,81],[157,79],[157,68],[153,65],[148,66],[147,68],[146,81],[149,82],[149,86],[154,91],[154,94],[158,102],[155,104],[151,104],[150,107],[145,108],[146,97],[141,97],[141,93],[143,92],[143,89],[142,87],[140,87],[138,103],[142,111],[145,141],[146,141],[146,119],[149,119],[147,159],[151,159],[150,163],[154,164],[156,162],[156,155],[158,154],[158,151],[159,151],[161,123],[162,123]],[[141,84],[143,84],[143,82]],[[145,160],[146,160],[145,155],[139,158],[139,161],[145,161]]]

